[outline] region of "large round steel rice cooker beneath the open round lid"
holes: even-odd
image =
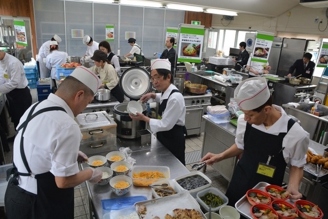
[[[117,123],[116,134],[123,138],[136,138],[137,131],[146,129],[146,122],[139,120],[132,120],[128,111],[128,103],[116,104],[113,109],[113,118]],[[142,114],[147,115],[147,107],[141,104]]]

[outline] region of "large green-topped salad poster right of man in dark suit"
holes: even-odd
[[[201,51],[203,47],[204,28],[195,28],[195,25],[181,27],[178,44],[178,62],[201,62]]]

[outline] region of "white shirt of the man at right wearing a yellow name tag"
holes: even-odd
[[[275,109],[281,112],[279,120],[273,124],[268,130],[263,124],[257,126],[252,125],[253,128],[258,129],[264,133],[278,135],[280,132],[287,132],[287,124],[290,117],[279,106],[272,105]],[[236,131],[235,143],[239,149],[244,149],[244,133],[246,130],[247,122],[244,121],[244,114],[238,118],[238,126]],[[292,166],[302,167],[306,164],[306,151],[309,148],[310,134],[306,132],[302,127],[295,123],[289,132],[285,135],[282,141],[283,157],[287,164]],[[297,149],[296,149],[297,148]]]

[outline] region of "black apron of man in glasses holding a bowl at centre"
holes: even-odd
[[[163,99],[162,103],[158,108],[158,115],[162,115],[166,109],[168,99],[172,93],[179,92],[179,90],[172,90],[167,99]],[[185,161],[185,149],[186,149],[186,138],[187,135],[186,126],[179,126],[175,124],[171,130],[160,131],[156,133],[158,141],[160,141],[178,160],[186,165]]]

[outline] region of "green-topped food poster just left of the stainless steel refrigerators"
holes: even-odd
[[[267,63],[270,49],[273,42],[273,33],[262,34],[257,33],[255,37],[253,52],[252,52],[252,62]]]

